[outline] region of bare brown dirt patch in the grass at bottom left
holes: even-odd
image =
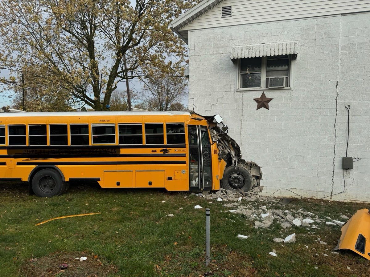
[[[87,260],[76,260],[76,257],[87,257]],[[68,264],[67,269],[61,270],[60,264]],[[104,264],[96,255],[86,255],[84,253],[52,253],[46,257],[33,258],[22,267],[21,276],[27,277],[100,277],[117,272],[117,269]]]

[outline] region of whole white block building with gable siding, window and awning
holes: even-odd
[[[172,28],[189,48],[189,109],[222,115],[264,194],[369,201],[369,0],[205,0]],[[343,170],[346,155],[361,160]]]

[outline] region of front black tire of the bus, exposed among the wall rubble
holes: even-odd
[[[246,168],[231,166],[223,172],[221,187],[233,192],[250,191],[253,187],[253,178]]]

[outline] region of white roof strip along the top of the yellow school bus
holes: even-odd
[[[186,115],[191,116],[189,112],[148,112],[148,111],[134,111],[134,112],[19,112],[19,113],[1,113],[0,117],[31,117],[31,116],[142,116],[142,115]]]

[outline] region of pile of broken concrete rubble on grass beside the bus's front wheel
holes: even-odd
[[[211,194],[209,192],[192,194],[204,197],[211,204],[215,202],[223,202],[223,207],[226,209],[225,212],[231,212],[236,216],[255,220],[254,227],[256,229],[269,228],[274,225],[280,225],[283,229],[292,228],[292,226],[307,229],[320,229],[319,226],[322,224],[331,226],[343,226],[345,224],[345,222],[334,220],[328,216],[319,218],[318,215],[315,215],[310,211],[303,211],[302,209],[298,209],[297,211],[286,209],[289,205],[283,205],[279,198],[258,195],[259,192],[262,192],[262,189],[262,186],[257,186],[253,188],[252,191],[248,192],[238,193],[221,189]],[[261,206],[260,204],[262,201],[265,201],[264,206]],[[273,205],[275,208],[272,208],[269,205]],[[282,209],[276,209],[276,206],[280,206]],[[348,217],[345,215],[340,216],[341,220],[346,218]]]

